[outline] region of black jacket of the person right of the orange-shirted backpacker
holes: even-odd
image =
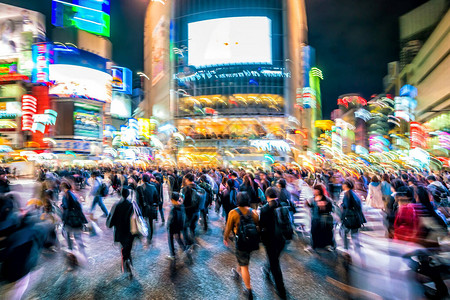
[[[277,230],[275,209],[279,207],[277,201],[270,201],[261,208],[259,228],[261,241],[266,247],[284,247],[285,239],[281,231]]]

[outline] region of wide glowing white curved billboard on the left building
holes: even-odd
[[[49,94],[59,97],[85,98],[111,102],[111,75],[98,70],[73,66],[50,65]]]

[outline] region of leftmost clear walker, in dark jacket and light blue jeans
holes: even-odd
[[[63,191],[63,199],[61,208],[63,209],[62,221],[63,228],[65,231],[65,237],[67,240],[67,246],[69,250],[73,249],[72,236],[77,241],[78,251],[87,258],[86,252],[84,251],[84,243],[81,238],[82,229],[84,224],[88,221],[83,213],[83,208],[80,202],[78,202],[77,197],[72,192],[72,186],[68,182],[61,183],[61,190]]]

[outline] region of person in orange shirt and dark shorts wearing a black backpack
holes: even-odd
[[[256,210],[250,208],[250,197],[246,192],[239,192],[236,198],[238,207],[229,213],[223,235],[223,243],[225,246],[228,246],[228,239],[233,230],[236,235],[235,254],[238,267],[237,269],[233,268],[232,273],[236,279],[242,278],[244,281],[247,299],[253,299],[248,265],[250,262],[250,253],[259,249],[259,218]]]

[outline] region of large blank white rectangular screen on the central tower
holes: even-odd
[[[188,64],[272,64],[272,30],[267,17],[212,19],[188,24]]]

